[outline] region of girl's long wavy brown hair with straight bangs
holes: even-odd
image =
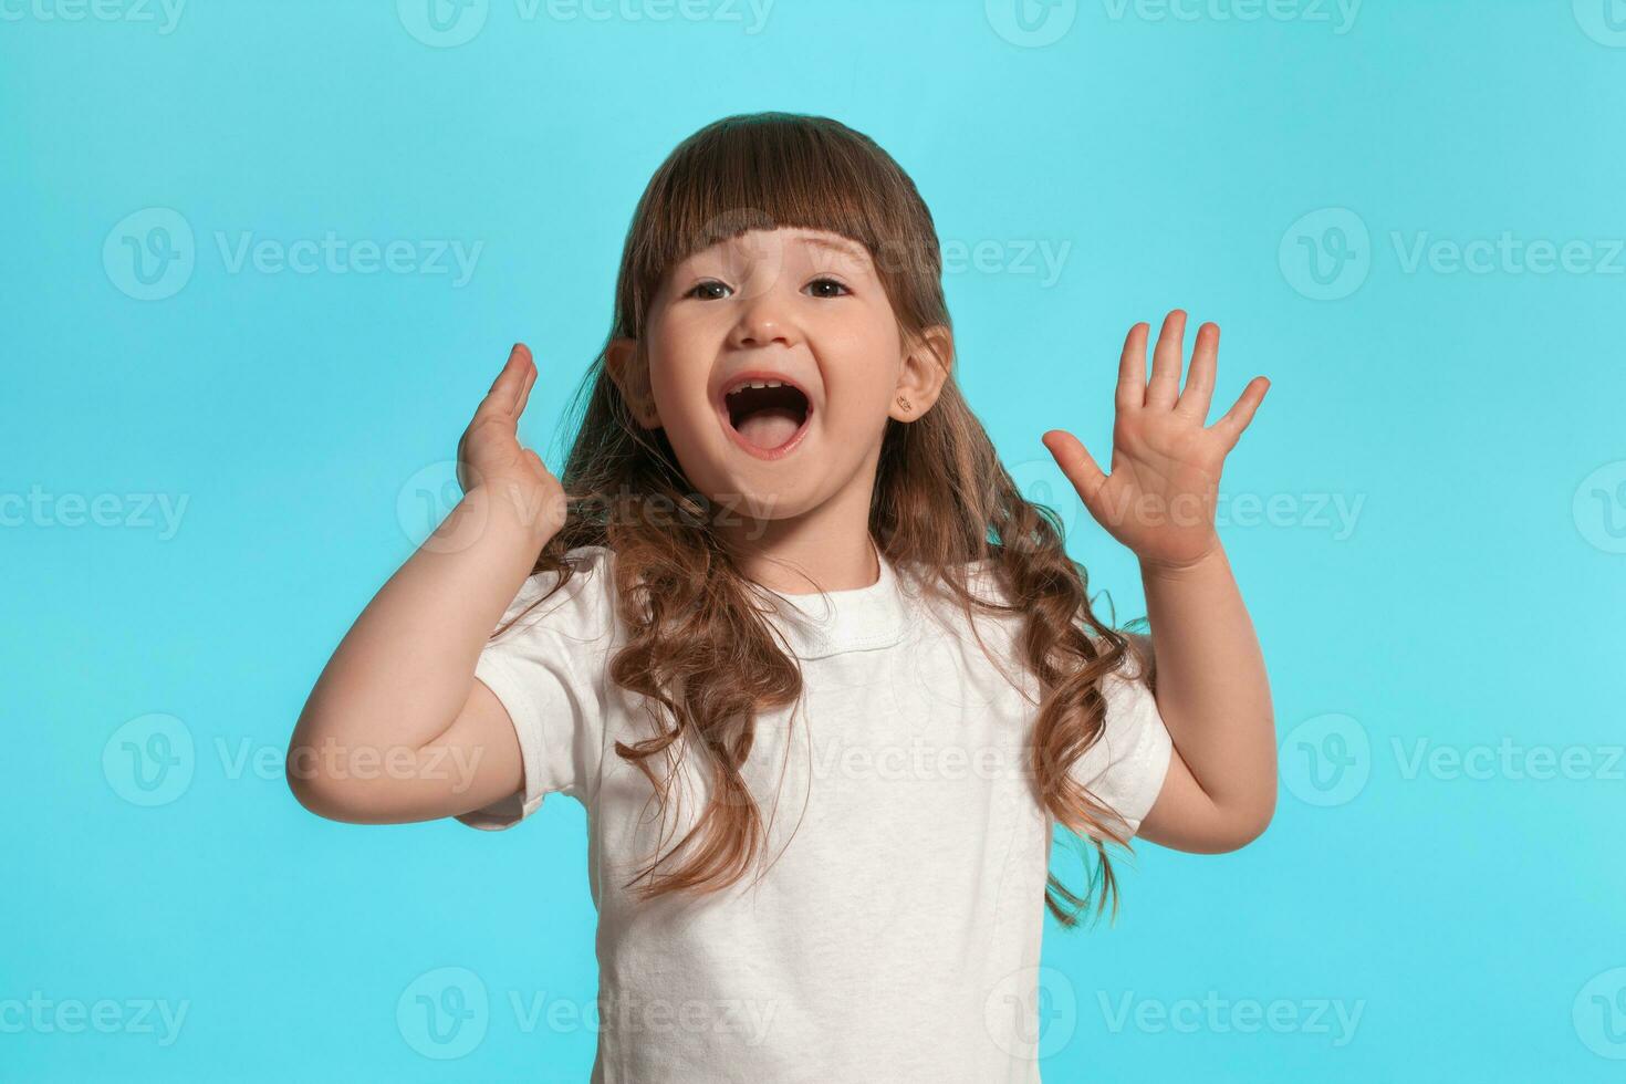
[[[579,418],[559,481],[571,494],[564,527],[543,546],[535,572],[563,587],[566,553],[615,553],[616,613],[626,645],[610,660],[611,679],[642,694],[655,735],[615,743],[662,803],[670,777],[649,761],[681,743],[704,754],[712,798],[693,830],[652,860],[626,887],[642,899],[709,892],[740,879],[763,848],[763,821],[740,772],[756,712],[797,704],[802,671],[782,652],[753,603],[748,582],[712,531],[714,509],[694,492],[663,429],[644,429],[606,371],[610,341],[637,340],[631,362],[647,387],[644,330],[662,276],[688,255],[750,229],[831,231],[863,244],[886,288],[901,335],[919,341],[950,327],[941,252],[932,215],[914,182],[868,137],[826,117],[764,112],[725,117],[680,143],[655,171],[628,229],[616,280],[615,320],[567,411]],[[953,358],[933,406],[912,423],[888,421],[881,442],[870,535],[899,567],[972,608],[1023,618],[1016,645],[1042,692],[1031,736],[1037,798],[1099,855],[1098,915],[1117,886],[1106,840],[1128,847],[1117,813],[1070,777],[1098,741],[1106,700],[1101,678],[1125,661],[1128,644],[1089,608],[1088,579],[1062,540],[1062,520],[1023,497],[953,375]],[[585,397],[585,410],[582,400]],[[569,426],[567,426],[569,429]],[[641,514],[667,509],[660,517]],[[971,590],[967,570],[987,562],[1008,605]],[[558,588],[554,588],[558,590]],[[678,850],[688,861],[662,871]],[[1073,926],[1088,904],[1052,873],[1046,904]]]

